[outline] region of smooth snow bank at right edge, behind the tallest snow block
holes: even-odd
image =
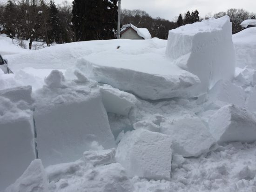
[[[236,66],[253,66],[256,69],[256,27],[233,34],[232,39],[236,51]]]

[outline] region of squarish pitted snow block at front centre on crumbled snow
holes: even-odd
[[[116,162],[127,171],[146,179],[170,180],[172,139],[168,135],[148,130],[127,132],[116,149]]]

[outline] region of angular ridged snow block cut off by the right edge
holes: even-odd
[[[246,109],[227,105],[209,120],[209,130],[218,143],[256,141],[256,116]]]

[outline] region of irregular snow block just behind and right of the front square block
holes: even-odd
[[[161,132],[173,140],[173,151],[183,157],[197,157],[209,152],[216,140],[201,119],[184,115],[161,123]]]

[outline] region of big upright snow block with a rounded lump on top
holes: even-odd
[[[34,93],[37,149],[45,166],[79,159],[94,140],[104,148],[115,147],[95,82],[65,81],[57,70],[45,82]]]

